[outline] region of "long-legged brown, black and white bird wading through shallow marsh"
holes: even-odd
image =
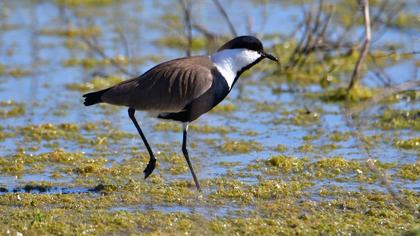
[[[210,55],[190,56],[163,62],[142,75],[109,88],[84,94],[84,105],[98,103],[128,107],[128,116],[149,153],[145,179],[156,166],[154,153],[136,120],[136,111],[159,119],[182,123],[182,153],[198,191],[200,183],[187,150],[189,124],[218,105],[232,90],[240,75],[263,59],[278,63],[264,51],[262,42],[250,35],[239,36]]]

